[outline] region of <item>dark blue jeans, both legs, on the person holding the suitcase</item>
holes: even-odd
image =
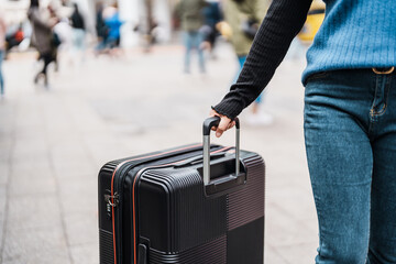
[[[396,263],[396,74],[308,79],[305,140],[319,264]]]

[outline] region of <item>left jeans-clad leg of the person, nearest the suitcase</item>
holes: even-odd
[[[305,140],[319,220],[317,264],[363,264],[370,233],[372,84],[348,72],[310,79]]]

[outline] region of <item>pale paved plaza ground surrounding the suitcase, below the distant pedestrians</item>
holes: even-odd
[[[108,161],[201,141],[201,122],[237,70],[221,46],[206,76],[182,74],[183,51],[61,64],[50,91],[34,87],[34,57],[4,63],[0,102],[0,263],[97,264],[97,174]],[[193,62],[196,63],[196,62]],[[275,122],[243,122],[242,148],[266,162],[265,263],[314,263],[317,220],[302,134],[300,74],[286,61],[265,97]],[[215,140],[233,144],[233,133]]]

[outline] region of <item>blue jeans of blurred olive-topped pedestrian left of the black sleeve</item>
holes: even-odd
[[[198,52],[200,72],[205,73],[205,57],[204,57],[204,51],[202,51],[202,48],[200,48],[201,43],[202,43],[202,34],[199,31],[186,31],[184,33],[184,44],[186,47],[186,55],[185,55],[185,72],[186,73],[189,73],[189,70],[190,70],[190,61],[191,61],[193,48],[196,48]]]

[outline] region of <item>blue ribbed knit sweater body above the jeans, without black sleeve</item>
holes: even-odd
[[[396,66],[396,0],[327,0],[326,19],[307,53],[314,73]]]

